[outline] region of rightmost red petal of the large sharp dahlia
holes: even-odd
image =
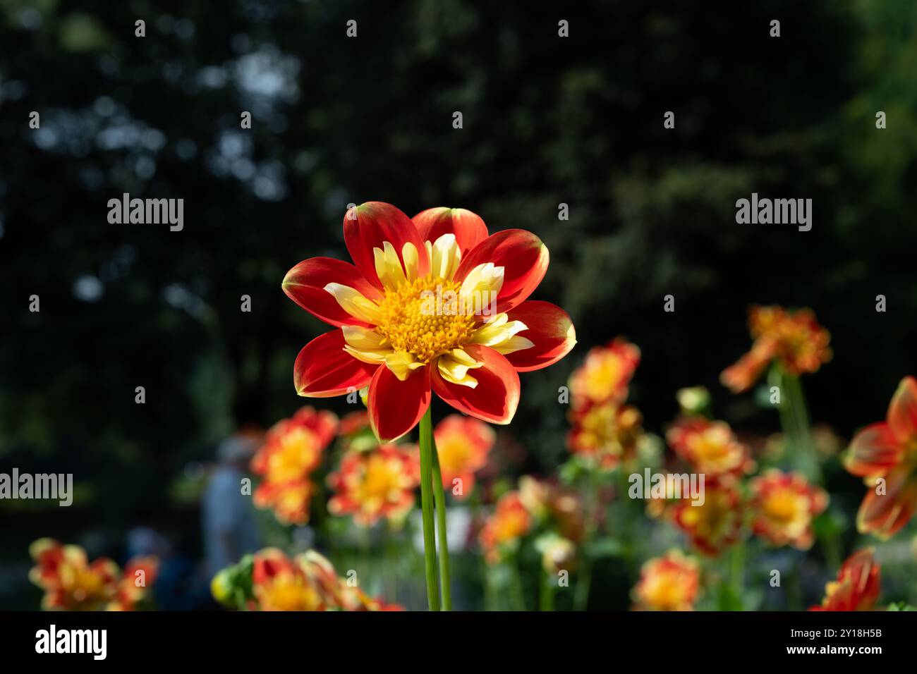
[[[522,321],[527,330],[519,337],[535,342],[535,346],[506,354],[520,372],[541,370],[566,356],[576,344],[576,330],[569,315],[556,304],[526,300],[507,313],[511,321]]]

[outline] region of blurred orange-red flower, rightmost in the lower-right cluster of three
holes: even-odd
[[[800,473],[771,469],[750,482],[752,530],[775,546],[812,547],[812,518],[828,506],[828,494]]]

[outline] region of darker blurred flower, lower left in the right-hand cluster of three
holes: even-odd
[[[671,514],[700,552],[715,557],[738,540],[745,508],[734,480],[705,479],[703,503],[691,503],[690,496],[680,499]]]

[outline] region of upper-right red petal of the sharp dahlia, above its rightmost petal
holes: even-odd
[[[547,259],[547,248],[540,238],[524,229],[506,229],[471,249],[458,265],[455,279],[463,280],[479,264],[493,262],[503,267],[503,288],[497,295],[497,311],[509,311],[532,294],[545,278]]]

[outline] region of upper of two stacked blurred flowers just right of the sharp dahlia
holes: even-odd
[[[624,337],[616,337],[604,347],[591,348],[570,377],[573,403],[623,402],[639,362],[640,349]]]

